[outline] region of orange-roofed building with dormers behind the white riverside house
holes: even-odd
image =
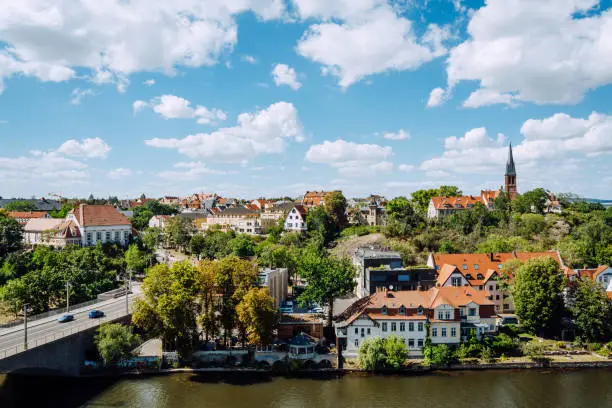
[[[431,253],[427,259],[427,266],[436,270],[436,286],[468,286],[479,291],[486,291],[490,294],[497,313],[511,313],[514,312],[514,302],[510,293],[503,290],[502,285],[504,263],[514,259],[525,262],[529,259],[543,257],[550,257],[557,261],[564,273],[571,271],[565,266],[557,251],[486,254]],[[508,278],[511,279],[511,276]]]

